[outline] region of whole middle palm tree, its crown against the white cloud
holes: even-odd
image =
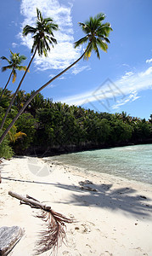
[[[25,75],[26,75],[27,71],[29,70],[29,67],[31,66],[31,62],[33,61],[36,53],[38,52],[38,55],[40,55],[40,56],[42,54],[47,56],[47,51],[50,50],[49,44],[51,44],[52,46],[53,46],[53,44],[57,44],[57,41],[53,36],[53,30],[54,31],[58,30],[58,25],[54,24],[53,19],[51,19],[51,18],[45,18],[45,19],[42,18],[42,13],[39,9],[37,9],[37,26],[33,27],[33,26],[26,25],[23,28],[24,36],[27,36],[29,33],[31,33],[33,35],[32,38],[34,39],[34,43],[33,43],[32,49],[31,49],[31,53],[33,53],[33,55],[31,57],[31,61],[29,62],[28,67],[25,70],[25,73],[24,73],[22,79],[20,80],[20,84],[19,84],[18,88],[14,92],[14,96],[8,106],[6,113],[5,113],[5,116],[3,118],[0,129],[3,129],[3,125],[8,116],[8,112],[14,103],[14,98],[17,95],[18,91],[20,90],[20,86],[21,86],[23,80],[25,79]]]

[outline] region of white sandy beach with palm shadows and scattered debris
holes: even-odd
[[[151,185],[32,157],[3,160],[0,168],[2,177],[10,178],[0,183],[0,226],[25,229],[9,255],[33,255],[42,230],[42,221],[33,216],[38,210],[20,205],[9,190],[31,195],[68,218],[74,216],[76,223],[66,224],[68,245],[63,243],[58,255],[152,255]]]

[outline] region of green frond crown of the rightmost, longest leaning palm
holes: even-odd
[[[108,49],[107,43],[110,43],[108,36],[110,34],[110,31],[112,31],[112,28],[110,26],[110,23],[102,22],[104,18],[104,14],[99,14],[95,17],[90,17],[90,19],[87,20],[85,23],[79,22],[79,25],[82,26],[82,31],[87,35],[76,41],[75,48],[80,46],[81,44],[88,42],[87,52],[84,55],[84,58],[86,59],[90,57],[93,50],[97,54],[97,57],[100,58],[98,47],[105,52]]]

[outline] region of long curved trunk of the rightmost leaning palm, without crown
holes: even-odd
[[[42,87],[40,87],[38,90],[36,90],[31,97],[25,102],[25,105],[20,109],[19,113],[17,113],[17,115],[14,117],[14,119],[12,120],[12,122],[10,123],[10,125],[8,125],[8,128],[3,132],[2,137],[0,137],[0,144],[3,142],[4,137],[6,137],[6,135],[8,134],[8,131],[12,128],[12,126],[14,125],[15,121],[20,117],[20,114],[24,112],[25,108],[27,107],[27,105],[32,101],[32,99],[37,96],[37,94],[44,89],[46,86],[48,86],[48,84],[51,84],[53,82],[53,80],[58,79],[63,73],[65,73],[67,70],[70,69],[70,67],[73,67],[78,61],[82,60],[82,57],[86,54],[87,50],[90,48],[91,43],[88,44],[87,49],[84,51],[84,53],[82,54],[82,56],[80,58],[78,58],[75,62],[73,62],[69,67],[66,67],[62,72],[60,72],[59,74],[57,74],[55,77],[53,77],[53,79],[50,79],[46,84],[43,84]]]

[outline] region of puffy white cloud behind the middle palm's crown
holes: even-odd
[[[53,22],[59,25],[59,31],[54,32],[58,44],[54,45],[47,58],[38,55],[35,57],[35,65],[41,70],[64,69],[81,55],[81,49],[73,47],[71,1],[66,6],[60,4],[58,0],[22,0],[21,2],[21,14],[25,17],[22,27],[25,25],[35,26],[37,8],[42,11],[43,17],[52,17]],[[20,33],[20,38],[22,44],[31,49],[33,44],[31,35],[23,38]]]

